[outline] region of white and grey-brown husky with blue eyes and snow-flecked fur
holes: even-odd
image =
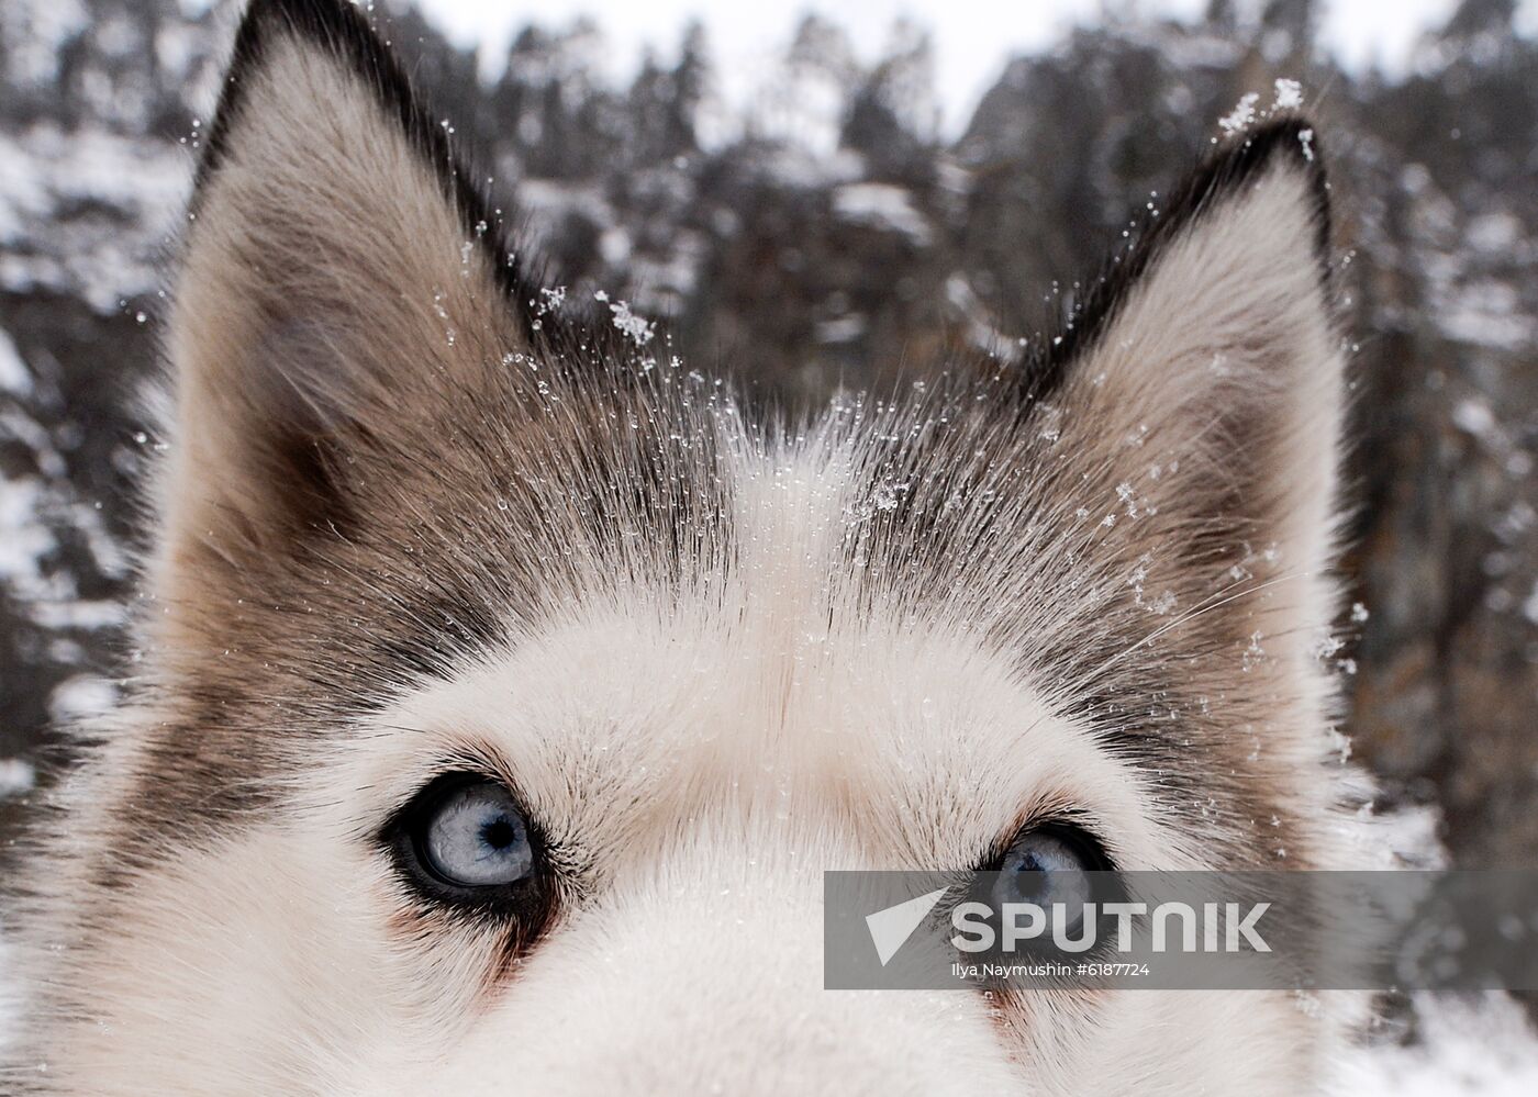
[[[1315,1085],[1281,993],[823,989],[821,873],[1332,863],[1326,198],[1273,118],[1017,361],[764,419],[540,315],[365,17],[255,0],[3,1089]]]

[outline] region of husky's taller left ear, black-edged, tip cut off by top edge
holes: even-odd
[[[345,0],[254,0],[175,281],[166,565],[348,522],[346,449],[528,343],[497,220]]]

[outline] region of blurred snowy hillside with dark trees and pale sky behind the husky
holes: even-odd
[[[1538,2],[823,8],[377,5],[552,284],[801,399],[1032,333],[1243,95],[1298,80],[1353,317],[1344,730],[1424,824],[1407,853],[1538,862]],[[0,0],[0,871],[45,728],[131,665],[131,393],[235,17]],[[1393,1003],[1343,1088],[1532,1092],[1527,1009]]]

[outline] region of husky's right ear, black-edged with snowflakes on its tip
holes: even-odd
[[[1227,570],[1266,553],[1293,575],[1332,561],[1327,195],[1301,118],[1218,149],[1026,372],[1032,415],[1074,444],[1081,475],[1134,493],[1187,559]]]

